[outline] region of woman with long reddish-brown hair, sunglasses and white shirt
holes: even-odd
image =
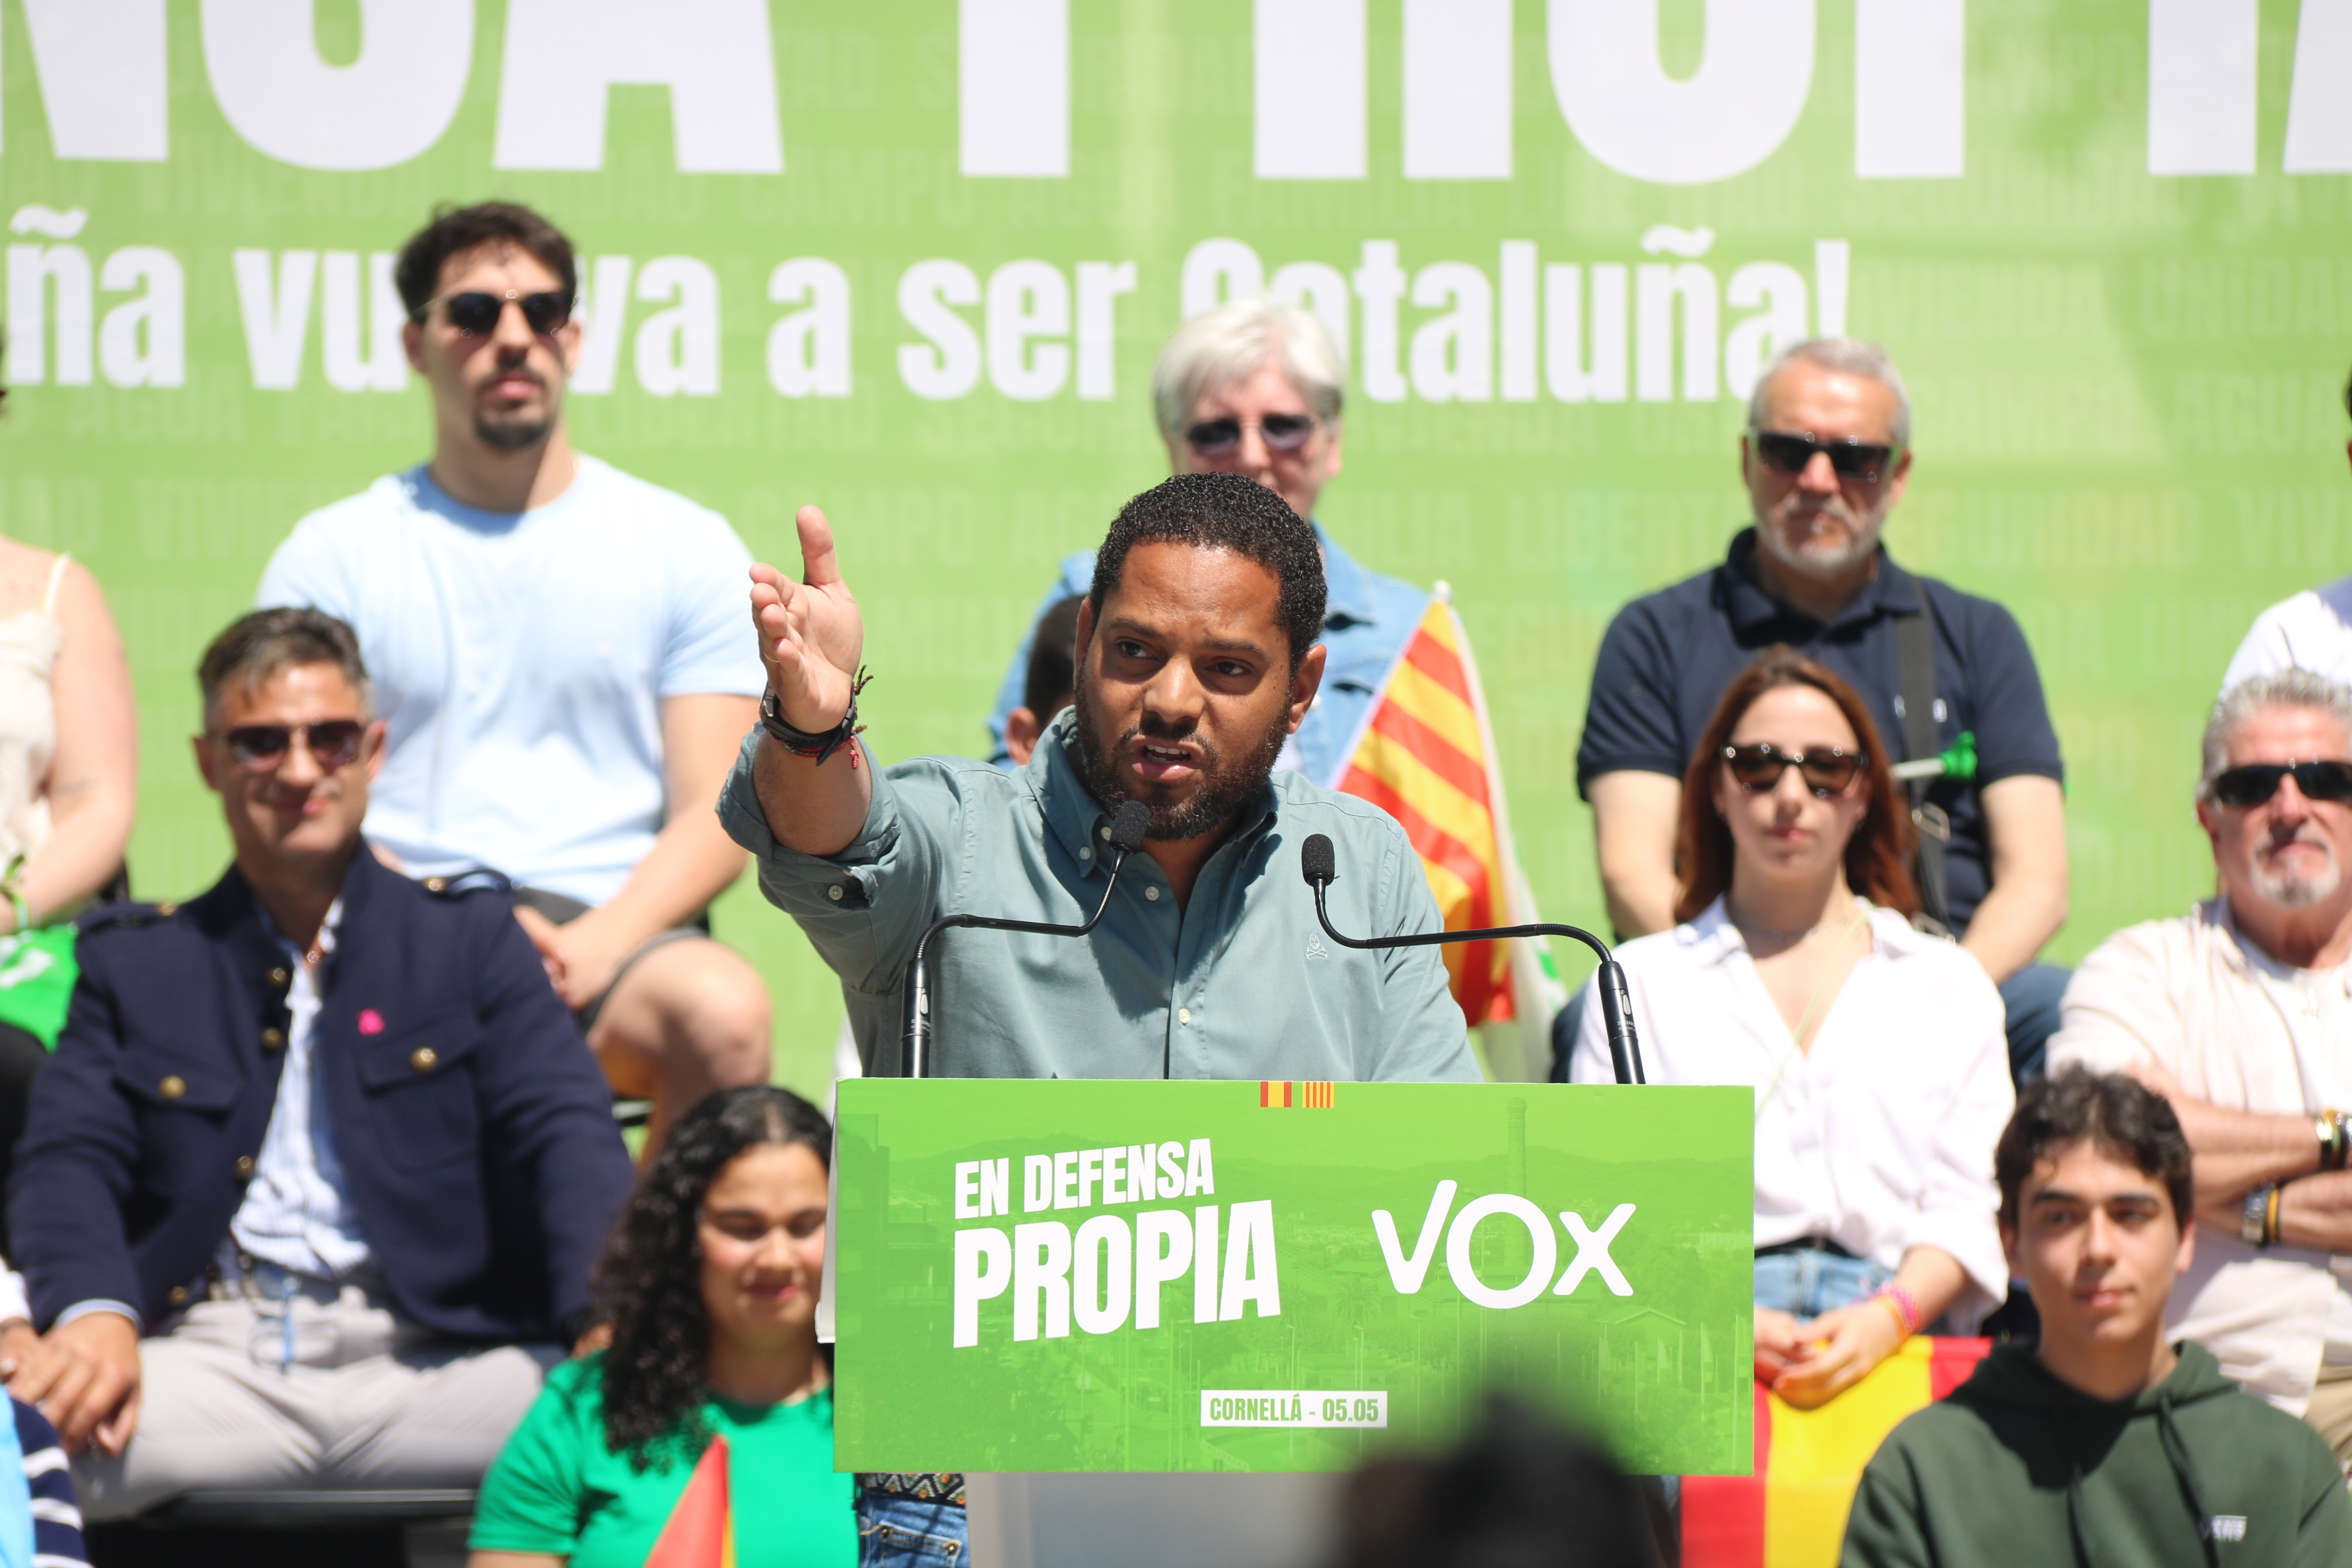
[[[1788,646],[1684,776],[1672,931],[1618,947],[1651,1084],[1755,1091],[1757,1378],[1797,1406],[2002,1302],[2002,997],[1924,936],[1910,813],[1860,696]],[[1613,1081],[1588,1006],[1571,1077]]]

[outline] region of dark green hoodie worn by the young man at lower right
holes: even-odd
[[[2199,1528],[2220,1519],[2220,1528]],[[2232,1523],[2241,1521],[2241,1523]],[[2239,1535],[2241,1530],[2241,1535]],[[1997,1347],[1863,1472],[1842,1568],[2343,1568],[2352,1502],[2317,1432],[2201,1345],[2138,1399]]]

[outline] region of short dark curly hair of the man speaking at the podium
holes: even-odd
[[[1275,621],[1291,642],[1291,675],[1298,672],[1308,649],[1322,642],[1322,545],[1289,501],[1256,480],[1232,473],[1181,473],[1122,505],[1103,548],[1094,552],[1094,585],[1087,597],[1096,616],[1120,590],[1127,552],[1157,543],[1232,550],[1272,571],[1279,583]]]

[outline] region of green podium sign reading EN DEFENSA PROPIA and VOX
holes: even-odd
[[[835,1455],[1348,1469],[1486,1389],[1752,1469],[1752,1095],[854,1079]]]

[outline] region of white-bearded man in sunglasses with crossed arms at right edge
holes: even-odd
[[[2166,1095],[2197,1154],[2197,1262],[2166,1328],[2352,1458],[2352,689],[2239,682],[2204,733],[2220,896],[2117,931],[2065,994],[2051,1070]]]

